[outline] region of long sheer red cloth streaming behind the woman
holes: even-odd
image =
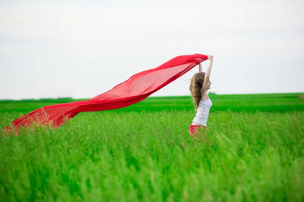
[[[131,76],[127,81],[90,100],[50,105],[34,110],[16,119],[4,130],[18,129],[21,126],[28,127],[33,122],[58,127],[65,120],[73,118],[80,112],[114,110],[133,105],[207,59],[208,56],[201,54],[175,57],[157,68]]]

